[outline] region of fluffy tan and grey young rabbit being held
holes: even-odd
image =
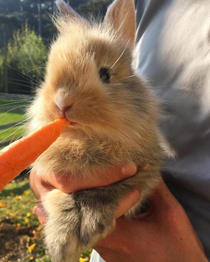
[[[135,39],[133,0],[115,0],[103,22],[80,17],[64,1],[55,18],[59,31],[28,114],[31,128],[66,116],[72,121],[59,139],[32,165],[43,176],[104,175],[125,164],[148,165],[136,175],[106,187],[67,194],[52,190],[45,242],[54,262],[77,262],[82,251],[111,233],[119,201],[141,188],[134,216],[160,179],[162,150],[156,99],[132,69]]]

